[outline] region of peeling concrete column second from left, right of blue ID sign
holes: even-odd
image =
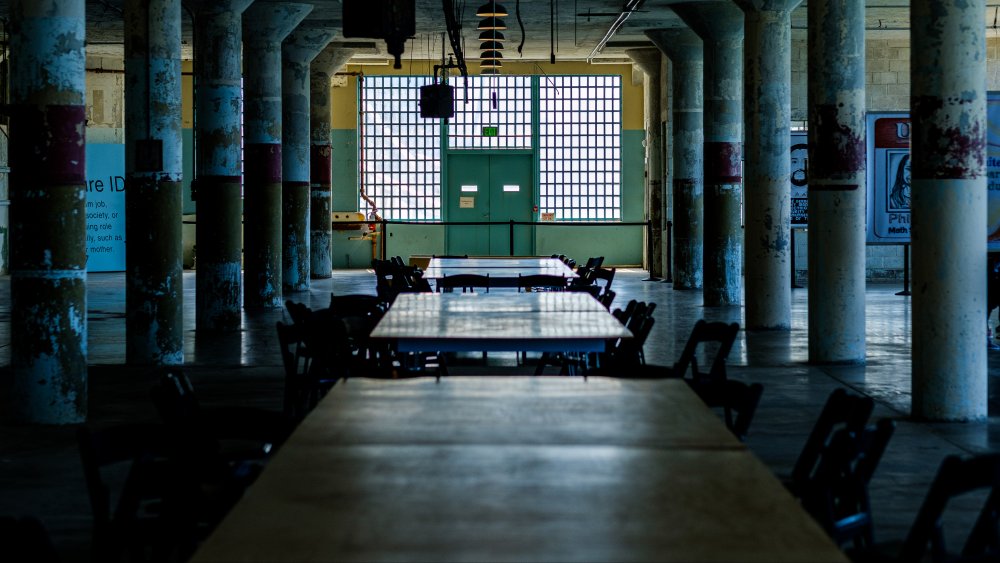
[[[125,3],[125,361],[184,363],[181,2]]]

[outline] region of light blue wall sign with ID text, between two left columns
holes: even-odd
[[[125,145],[87,145],[87,271],[125,270]]]

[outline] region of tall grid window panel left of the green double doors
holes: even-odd
[[[383,219],[441,219],[441,120],[420,117],[429,76],[365,76],[360,82],[361,188]],[[360,194],[359,194],[360,195]],[[366,215],[371,206],[359,197]]]

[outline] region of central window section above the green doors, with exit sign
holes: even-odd
[[[448,123],[452,149],[530,149],[531,77],[470,76],[455,87],[455,117]]]

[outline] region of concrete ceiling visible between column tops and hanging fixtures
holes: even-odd
[[[258,0],[275,1],[275,0]],[[8,0],[0,0],[0,7],[6,13]],[[313,0],[314,9],[309,19],[333,20],[340,28],[342,6],[339,0]],[[475,29],[479,21],[476,10],[483,2],[470,0],[455,3],[460,15],[465,38],[466,56],[478,57],[478,35]],[[517,2],[502,0],[510,12],[503,18],[507,24],[504,57],[507,60],[548,61],[554,53],[556,60],[624,60],[625,49],[652,46],[643,31],[683,25],[669,8],[672,0],[520,0],[521,21],[524,32],[515,16]],[[87,41],[94,53],[120,54],[122,50],[122,10],[124,0],[87,0]],[[984,14],[991,33],[998,33],[997,15],[1000,1],[988,2]],[[637,6],[637,7],[636,7]],[[635,9],[628,9],[636,7]],[[439,0],[416,0],[416,36],[407,40],[406,59],[440,59],[442,37],[445,32],[443,2]],[[555,15],[553,18],[552,15]],[[191,12],[184,11],[185,56],[191,53]],[[555,21],[555,25],[551,22]],[[616,26],[616,24],[618,24]],[[868,0],[866,26],[870,37],[905,38],[909,28],[908,0]],[[802,4],[792,17],[795,33],[804,36],[806,28],[806,6]],[[516,48],[524,38],[523,52]],[[348,43],[356,49],[354,62],[366,60],[381,62],[390,58],[385,43],[381,40],[363,38],[345,39],[338,36],[335,41]],[[602,46],[603,47],[600,47]],[[450,47],[447,48],[451,51]]]

